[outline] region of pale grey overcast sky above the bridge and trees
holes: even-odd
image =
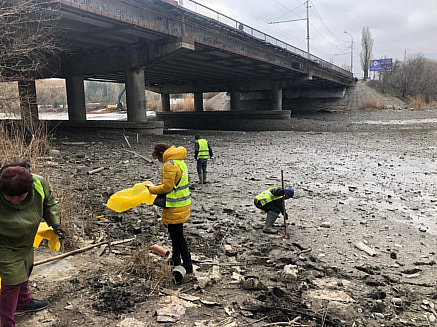
[[[181,0],[179,0],[181,1]],[[187,6],[189,0],[183,0]],[[196,0],[302,50],[307,49],[305,0]],[[362,76],[361,32],[374,40],[372,59],[422,54],[437,61],[437,0],[310,0],[310,53]],[[191,9],[191,8],[190,8]]]

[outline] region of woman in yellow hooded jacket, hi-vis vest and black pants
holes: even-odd
[[[190,217],[191,209],[188,168],[184,162],[186,156],[187,149],[182,146],[176,148],[165,143],[156,144],[152,157],[164,163],[161,184],[146,187],[151,194],[158,194],[154,204],[163,208],[162,222],[168,224],[173,249],[170,264],[179,266],[182,263],[187,274],[191,274],[193,265],[184,237],[184,223]]]

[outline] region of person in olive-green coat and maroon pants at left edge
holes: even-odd
[[[0,169],[0,318],[1,327],[14,327],[14,315],[46,308],[47,300],[29,293],[33,241],[42,219],[62,240],[59,205],[41,176],[30,165],[14,162]]]

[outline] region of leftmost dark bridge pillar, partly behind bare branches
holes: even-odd
[[[20,97],[21,120],[25,126],[32,127],[33,123],[38,121],[35,81],[19,81],[18,95]]]

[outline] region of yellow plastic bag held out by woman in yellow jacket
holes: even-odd
[[[141,203],[152,205],[156,198],[156,194],[150,194],[147,184],[152,184],[147,181],[140,184],[135,184],[134,187],[114,193],[106,203],[106,206],[114,211],[123,212],[133,207],[139,206]]]

